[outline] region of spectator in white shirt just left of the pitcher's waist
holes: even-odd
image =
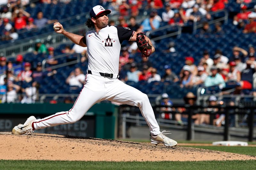
[[[75,71],[72,71],[68,76],[66,83],[70,86],[82,87],[84,85],[85,75],[80,68],[76,68]]]

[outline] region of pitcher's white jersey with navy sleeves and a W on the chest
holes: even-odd
[[[83,38],[88,50],[88,70],[118,74],[121,44],[131,40],[133,34],[130,28],[121,26],[88,31]]]

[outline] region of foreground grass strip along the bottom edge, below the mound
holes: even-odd
[[[84,155],[86,156],[86,154]],[[159,169],[255,169],[255,160],[233,160],[233,161],[162,161],[162,162],[95,162],[95,161],[48,161],[48,160],[0,160],[0,169],[138,169],[138,170],[159,170]]]

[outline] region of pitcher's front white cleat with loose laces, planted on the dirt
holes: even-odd
[[[173,147],[176,146],[178,143],[175,140],[170,139],[169,137],[166,137],[165,134],[171,134],[171,133],[164,133],[164,132],[170,132],[170,131],[162,131],[160,134],[153,136],[151,134],[151,144],[164,144],[166,147]]]

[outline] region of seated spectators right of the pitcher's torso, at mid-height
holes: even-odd
[[[124,51],[122,54],[124,55]],[[129,52],[127,52],[125,56],[120,56],[119,74],[123,81],[179,82],[182,88],[197,85],[206,87],[217,85],[220,89],[223,89],[226,82],[235,81],[237,82],[237,89],[251,90],[252,78],[256,68],[254,47],[251,46],[248,51],[234,47],[232,54],[228,58],[222,55],[220,50],[216,50],[215,55],[210,56],[210,53],[205,50],[198,65],[194,64],[195,60],[192,56],[184,57],[184,66],[179,76],[172,72],[171,65],[165,65],[165,74],[161,78],[150,62],[150,57],[148,59],[143,57],[140,63],[135,63],[133,56],[129,56]],[[126,60],[124,60],[125,57]]]

